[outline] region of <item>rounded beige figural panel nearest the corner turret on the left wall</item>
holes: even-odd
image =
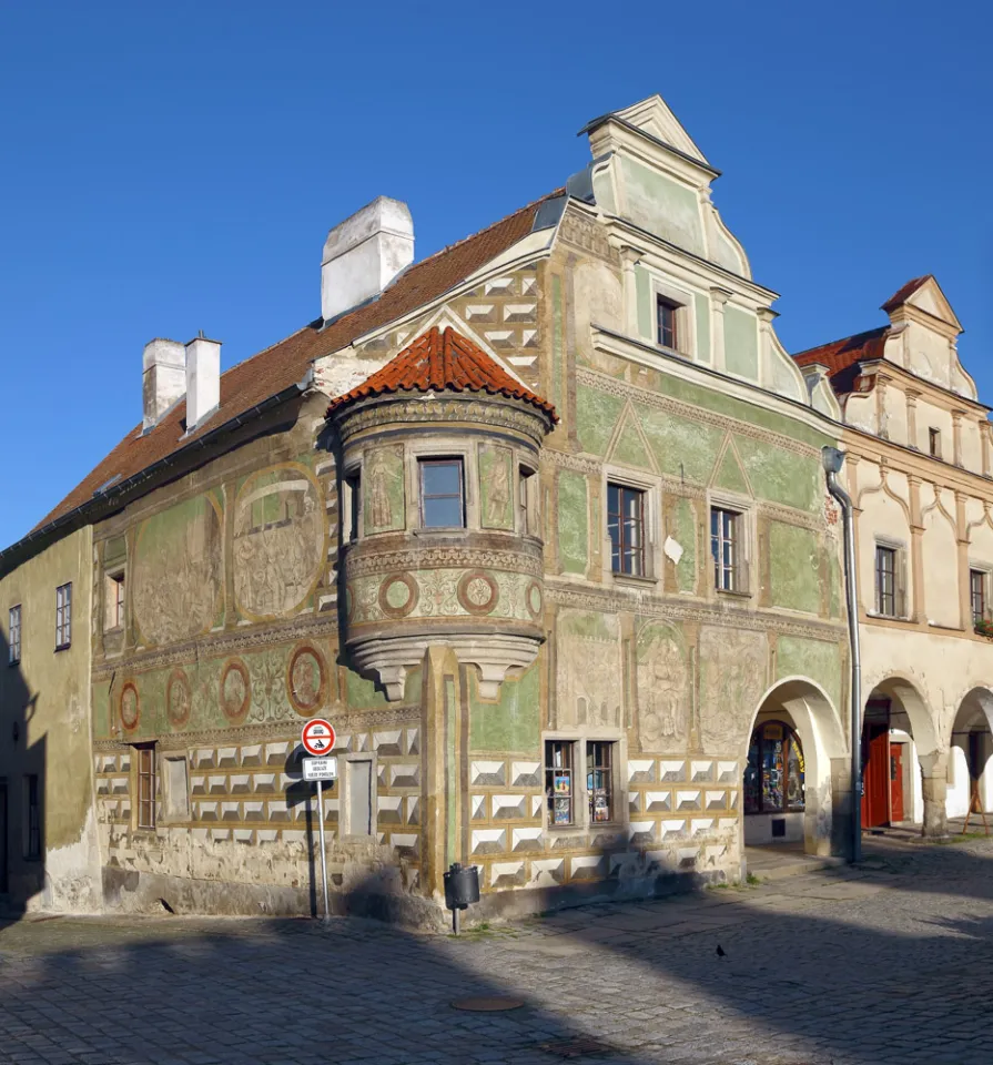
[[[321,488],[286,463],[249,477],[234,507],[234,595],[261,621],[294,613],[313,594],[325,555]]]

